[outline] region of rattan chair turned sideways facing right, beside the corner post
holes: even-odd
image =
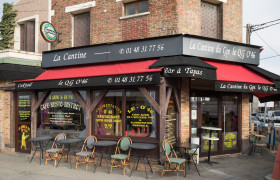
[[[162,174],[163,176],[165,171],[176,171],[177,174],[177,180],[178,180],[178,175],[180,171],[183,171],[184,176],[186,176],[186,159],[183,158],[178,158],[177,154],[172,146],[172,144],[168,140],[164,140],[162,142],[162,147],[164,150],[164,167],[162,169]],[[170,167],[174,165],[175,169],[170,169]],[[184,167],[185,170],[180,170],[180,167]]]

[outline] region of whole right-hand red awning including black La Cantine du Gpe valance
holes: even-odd
[[[204,62],[217,68],[216,91],[278,93],[275,84],[241,64]]]

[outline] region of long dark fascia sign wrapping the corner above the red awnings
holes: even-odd
[[[257,46],[177,35],[44,52],[42,68],[176,55],[259,64],[259,53]]]

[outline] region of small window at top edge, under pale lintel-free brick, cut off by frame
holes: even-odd
[[[126,16],[148,12],[148,1],[147,0],[126,3],[126,4],[124,4],[124,6],[125,6],[125,15]]]

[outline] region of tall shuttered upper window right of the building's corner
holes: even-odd
[[[201,35],[210,38],[222,36],[221,5],[201,2]]]

